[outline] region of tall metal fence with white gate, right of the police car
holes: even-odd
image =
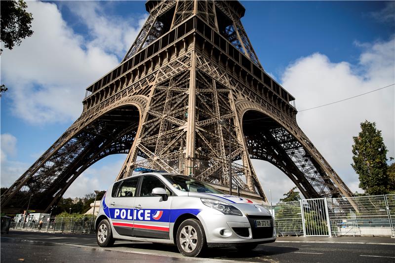
[[[395,237],[395,194],[303,199],[265,205],[277,235]]]

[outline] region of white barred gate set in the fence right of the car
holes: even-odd
[[[332,236],[326,198],[305,199],[300,204],[306,236]]]

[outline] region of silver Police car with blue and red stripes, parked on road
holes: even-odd
[[[251,250],[276,240],[274,220],[263,206],[167,173],[115,182],[100,202],[95,229],[101,247],[117,239],[176,244],[188,257],[206,247]]]

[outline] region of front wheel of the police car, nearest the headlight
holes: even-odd
[[[201,223],[196,219],[182,222],[177,229],[176,243],[180,253],[186,257],[201,255],[207,246]]]

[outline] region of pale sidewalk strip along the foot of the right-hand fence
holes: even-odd
[[[390,236],[279,236],[276,242],[395,245],[395,238],[391,238]]]

